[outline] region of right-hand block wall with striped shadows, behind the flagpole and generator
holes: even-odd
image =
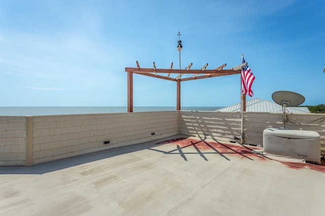
[[[287,114],[286,129],[315,131],[325,147],[325,114]],[[282,113],[244,113],[244,139],[246,144],[263,146],[266,128],[284,128]],[[241,138],[241,113],[180,111],[180,133],[207,137],[220,141]],[[209,136],[205,136],[208,133]]]

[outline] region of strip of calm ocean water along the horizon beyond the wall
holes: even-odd
[[[181,107],[181,110],[214,111],[222,107]],[[172,111],[176,107],[133,107],[134,112]],[[123,113],[127,107],[0,107],[0,116]]]

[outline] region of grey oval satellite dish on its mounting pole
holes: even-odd
[[[283,122],[285,128],[286,122],[286,107],[295,107],[305,102],[305,97],[295,93],[295,92],[288,92],[288,91],[278,91],[272,94],[272,99],[275,103],[282,106],[283,110]]]

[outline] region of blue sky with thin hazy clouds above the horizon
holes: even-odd
[[[241,64],[254,96],[325,104],[325,1],[0,0],[0,106],[126,106],[125,67]],[[184,81],[181,106],[240,102],[240,75]],[[251,99],[247,96],[247,100]],[[176,82],[134,75],[134,106],[176,106]]]

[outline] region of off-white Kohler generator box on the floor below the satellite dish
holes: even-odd
[[[263,149],[320,163],[320,136],[313,131],[267,128],[263,132]]]

